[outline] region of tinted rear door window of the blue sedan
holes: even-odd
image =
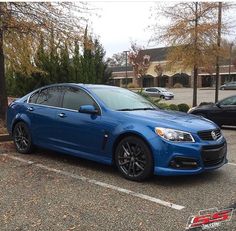
[[[62,95],[61,87],[49,87],[40,91],[36,103],[47,106],[58,107],[61,95]]]

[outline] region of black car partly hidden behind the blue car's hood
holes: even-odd
[[[219,126],[236,126],[236,95],[225,98],[218,103],[192,108],[189,113],[203,116]]]

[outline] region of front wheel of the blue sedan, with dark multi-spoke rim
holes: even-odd
[[[136,136],[120,141],[115,150],[115,163],[123,177],[143,181],[153,174],[152,153],[147,144]]]

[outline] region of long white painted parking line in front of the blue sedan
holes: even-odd
[[[34,166],[37,166],[38,168],[45,169],[45,170],[50,171],[50,172],[54,172],[54,173],[57,173],[57,174],[60,174],[60,175],[63,175],[63,176],[67,176],[67,177],[71,177],[71,178],[74,178],[74,179],[77,179],[77,180],[81,180],[83,182],[87,182],[87,183],[90,183],[90,184],[93,184],[93,185],[98,185],[98,186],[103,187],[103,188],[112,189],[114,191],[125,193],[125,194],[128,194],[130,196],[134,196],[134,197],[137,197],[137,198],[140,198],[140,199],[143,199],[143,200],[151,201],[151,202],[154,202],[156,204],[163,205],[163,206],[166,206],[166,207],[169,207],[169,208],[172,208],[172,209],[182,210],[182,209],[185,208],[182,205],[173,204],[171,202],[163,201],[161,199],[151,197],[151,196],[148,196],[148,195],[145,195],[145,194],[142,194],[142,193],[134,192],[134,191],[129,190],[129,189],[125,189],[125,188],[121,188],[121,187],[118,187],[118,186],[115,186],[115,185],[112,185],[112,184],[104,183],[102,181],[89,179],[87,177],[80,176],[80,175],[77,175],[77,174],[73,174],[73,173],[70,173],[70,172],[67,172],[67,171],[59,170],[59,169],[56,169],[56,168],[51,168],[51,167],[48,167],[48,166],[43,165],[43,164],[37,164],[33,161],[25,160],[25,159],[20,158],[20,157],[12,156],[12,155],[9,155],[9,154],[2,154],[2,155],[5,156],[5,157],[8,157],[10,159],[23,162],[23,163],[27,163],[27,164],[31,164],[31,165],[33,164]]]

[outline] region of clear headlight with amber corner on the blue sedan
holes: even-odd
[[[175,141],[175,142],[195,142],[194,138],[189,132],[174,130],[171,128],[155,128],[157,135],[165,140]]]

